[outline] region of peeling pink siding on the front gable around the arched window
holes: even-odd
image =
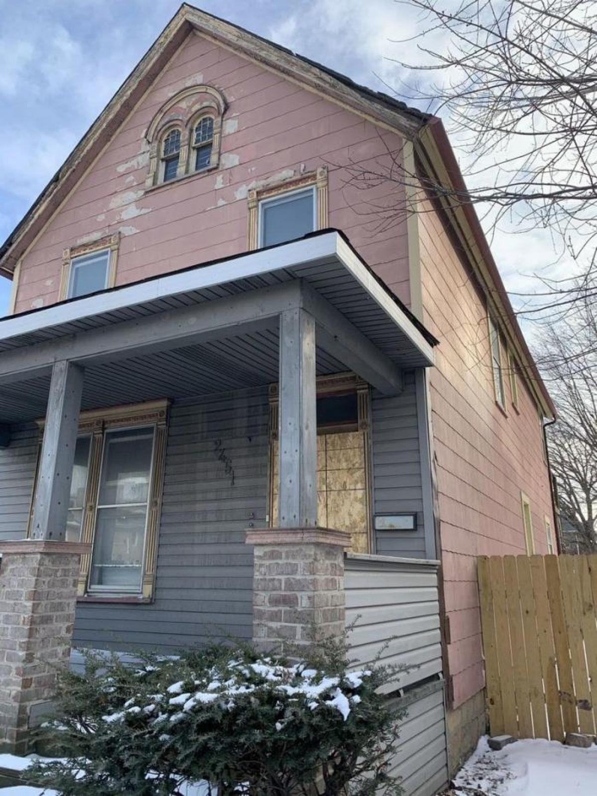
[[[201,83],[228,102],[220,168],[146,191],[147,126],[167,98]],[[114,232],[121,235],[117,284],[244,252],[248,189],[324,164],[330,226],[408,302],[405,225],[378,228],[377,207],[399,205],[400,189],[359,190],[342,168],[379,168],[386,147],[399,150],[399,137],[380,136],[361,117],[192,33],[23,258],[16,311],[57,301],[64,248]]]

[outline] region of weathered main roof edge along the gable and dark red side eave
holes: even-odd
[[[397,131],[407,139],[415,140],[432,160],[437,162],[439,158],[446,172],[447,183],[457,186],[459,192],[466,192],[462,174],[440,119],[417,108],[408,107],[406,103],[384,92],[373,91],[357,84],[340,72],[298,55],[291,49],[268,41],[239,25],[233,25],[232,22],[183,3],[2,244],[0,274],[12,275],[22,253],[193,30],[219,45],[243,54],[264,68],[282,73],[289,80],[357,112],[365,119]],[[478,271],[482,274],[485,268],[494,284],[492,298],[501,305],[500,316],[509,327],[513,339],[517,341],[521,358],[529,363],[530,381],[533,386],[538,387],[538,390],[534,390],[537,399],[547,415],[555,416],[552,400],[518,325],[474,207],[463,203],[462,209],[477,244],[474,259],[478,260]]]

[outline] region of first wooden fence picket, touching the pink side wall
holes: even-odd
[[[494,596],[491,591],[490,560],[479,556],[477,561],[479,603],[483,635],[483,654],[485,655],[487,708],[490,714],[491,734],[504,733],[504,714],[501,708],[501,689],[499,665],[497,663],[497,642],[495,638]]]

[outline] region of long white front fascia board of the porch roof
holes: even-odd
[[[295,240],[284,246],[248,252],[246,255],[213,265],[189,268],[180,273],[166,274],[159,279],[130,286],[111,288],[96,295],[84,296],[45,310],[17,315],[0,321],[0,340],[14,338],[62,323],[83,320],[105,312],[123,310],[159,298],[204,290],[235,279],[248,279],[290,268],[316,259],[336,256],[337,232]]]

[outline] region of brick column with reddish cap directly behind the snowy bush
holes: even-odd
[[[350,534],[323,528],[251,529],[254,545],[253,640],[283,649],[345,629],[344,550]]]

